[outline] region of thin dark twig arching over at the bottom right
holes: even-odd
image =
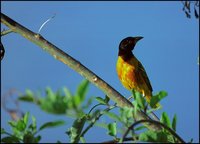
[[[171,128],[169,128],[168,126],[166,126],[165,124],[159,122],[159,121],[154,121],[154,120],[139,120],[135,123],[133,123],[128,129],[127,131],[124,133],[123,137],[122,137],[122,142],[124,141],[125,137],[128,135],[129,131],[131,129],[134,129],[134,127],[138,124],[141,123],[151,123],[151,124],[156,124],[156,125],[160,125],[161,127],[163,127],[164,129],[166,129],[167,131],[169,131],[175,138],[177,138],[181,143],[185,143],[185,141],[176,133],[174,132]]]

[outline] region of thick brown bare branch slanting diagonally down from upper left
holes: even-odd
[[[5,24],[9,27],[13,32],[16,32],[23,36],[24,38],[30,40],[31,42],[35,43],[43,50],[48,52],[52,55],[55,59],[63,62],[80,75],[85,77],[99,89],[101,89],[110,99],[117,103],[119,107],[129,107],[133,108],[133,105],[130,101],[128,101],[125,97],[123,97],[119,92],[117,92],[114,88],[112,88],[108,83],[82,65],[79,61],[75,60],[73,57],[47,41],[43,38],[40,34],[34,33],[31,30],[25,28],[21,24],[17,23],[16,21],[12,20],[5,14],[1,13],[1,23]],[[148,117],[144,112],[137,111],[137,114],[134,116],[135,120],[148,120]],[[161,127],[155,124],[148,125],[148,128],[153,130],[160,130]]]

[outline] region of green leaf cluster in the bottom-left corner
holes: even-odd
[[[37,130],[36,118],[32,116],[32,123],[29,124],[29,112],[27,112],[21,119],[8,122],[12,128],[12,134],[1,128],[1,135],[6,135],[5,137],[1,138],[1,142],[38,143],[41,140],[41,136],[37,134],[39,131],[46,128],[63,125],[64,123],[64,121],[46,122]]]

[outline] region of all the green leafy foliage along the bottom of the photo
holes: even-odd
[[[154,131],[148,129],[145,125],[139,123],[138,126],[132,127],[137,121],[134,121],[133,117],[137,110],[143,111],[150,116],[152,112],[158,109],[148,108],[148,104],[144,97],[137,91],[133,90],[132,103],[134,108],[119,108],[116,104],[110,104],[110,99],[105,96],[86,99],[86,95],[89,88],[89,82],[83,80],[75,94],[72,94],[67,88],[63,88],[62,91],[58,90],[53,92],[49,87],[45,90],[45,96],[41,95],[41,92],[32,92],[26,90],[24,95],[19,97],[20,101],[30,102],[36,104],[41,110],[54,114],[54,115],[66,115],[74,119],[71,127],[65,132],[69,137],[71,143],[87,142],[85,134],[93,127],[101,127],[107,130],[107,134],[111,136],[113,142],[123,142],[129,140],[132,142],[179,142],[178,138],[174,136],[171,131],[176,131],[177,116],[175,115],[170,120],[166,112],[163,112],[160,118],[160,123],[170,129],[167,130],[163,127],[160,131]],[[155,105],[165,98],[167,93],[160,91],[153,96],[150,105]],[[96,101],[97,104],[92,106],[92,101]],[[101,108],[99,108],[101,107]],[[112,112],[113,109],[117,109],[118,113]],[[160,109],[160,108],[159,108]],[[88,111],[88,112],[87,112]],[[102,122],[100,118],[108,117],[110,121]],[[150,116],[151,117],[151,116]],[[36,118],[32,116],[32,122],[29,124],[29,113],[26,113],[18,121],[10,121],[9,125],[12,128],[12,133],[6,132],[1,128],[1,135],[5,135],[1,142],[34,142],[39,143],[42,136],[39,132],[46,128],[53,128],[63,125],[64,121],[45,122],[37,129]],[[127,136],[122,138],[126,132]],[[64,133],[64,132],[63,132]],[[126,136],[126,135],[125,135]],[[126,139],[127,138],[127,139]],[[60,141],[57,141],[60,143]]]

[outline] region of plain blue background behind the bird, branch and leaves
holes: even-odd
[[[161,102],[170,118],[177,114],[177,132],[185,140],[199,141],[199,21],[186,18],[181,2],[1,2],[1,11],[37,32],[44,21],[41,35],[95,72],[124,96],[129,96],[116,74],[119,42],[128,36],[143,36],[134,54],[145,67],[154,93],[168,92]],[[2,28],[5,28],[1,25]],[[6,54],[1,62],[1,95],[11,88],[24,92],[63,86],[72,92],[83,79],[35,44],[17,34],[1,38]],[[89,96],[104,97],[91,85]],[[30,111],[38,125],[64,119],[38,107],[21,103]],[[9,115],[1,109],[1,125],[10,131]],[[41,132],[42,142],[68,141],[66,128]],[[91,136],[92,134],[92,136]],[[54,135],[54,137],[49,137]],[[86,135],[88,142],[111,139],[106,131],[93,129]]]

